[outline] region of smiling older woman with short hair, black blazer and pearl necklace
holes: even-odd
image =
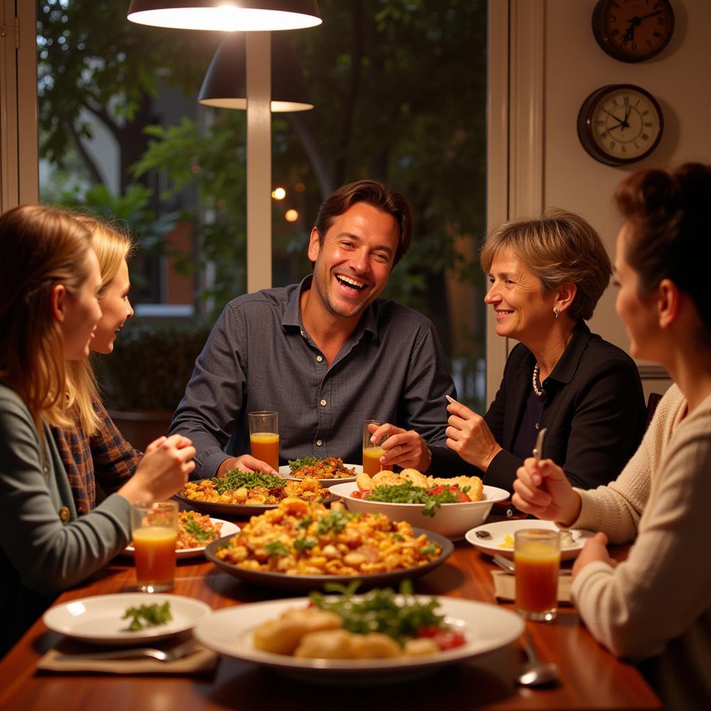
[[[485,483],[512,491],[545,427],[545,456],[575,486],[611,481],[641,441],[646,409],[634,361],[585,325],[611,275],[599,235],[579,215],[548,210],[493,230],[481,266],[496,333],[520,343],[484,417],[449,405],[447,445]]]

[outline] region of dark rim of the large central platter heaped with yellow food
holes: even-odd
[[[323,589],[326,583],[336,582],[347,585],[353,580],[360,580],[361,588],[381,587],[384,585],[392,585],[404,578],[413,578],[424,575],[434,568],[442,565],[445,560],[451,555],[454,550],[449,538],[444,538],[443,535],[432,533],[432,531],[424,530],[423,528],[413,528],[415,536],[421,533],[427,535],[429,542],[437,543],[442,549],[442,553],[430,561],[426,565],[420,565],[414,568],[405,568],[403,570],[393,570],[386,573],[374,573],[372,575],[288,575],[286,573],[267,572],[263,570],[248,570],[240,568],[232,563],[220,560],[215,553],[219,548],[228,545],[229,538],[223,540],[215,540],[205,547],[205,557],[212,561],[215,565],[234,575],[237,578],[251,582],[264,587],[274,587],[279,589],[287,589],[292,591],[309,592],[314,589]]]

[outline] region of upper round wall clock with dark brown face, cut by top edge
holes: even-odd
[[[669,0],[598,0],[592,31],[606,53],[623,62],[658,55],[674,33]]]

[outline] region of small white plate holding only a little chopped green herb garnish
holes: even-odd
[[[170,602],[173,619],[166,624],[146,627],[135,632],[125,631],[129,619],[122,619],[129,607]],[[122,592],[95,595],[50,607],[42,621],[49,629],[73,639],[91,644],[129,646],[145,641],[158,641],[192,629],[196,622],[209,616],[212,608],[181,595],[159,592]]]

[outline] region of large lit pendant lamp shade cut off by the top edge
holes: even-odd
[[[141,25],[225,32],[321,24],[316,0],[131,0],[128,18]]]

